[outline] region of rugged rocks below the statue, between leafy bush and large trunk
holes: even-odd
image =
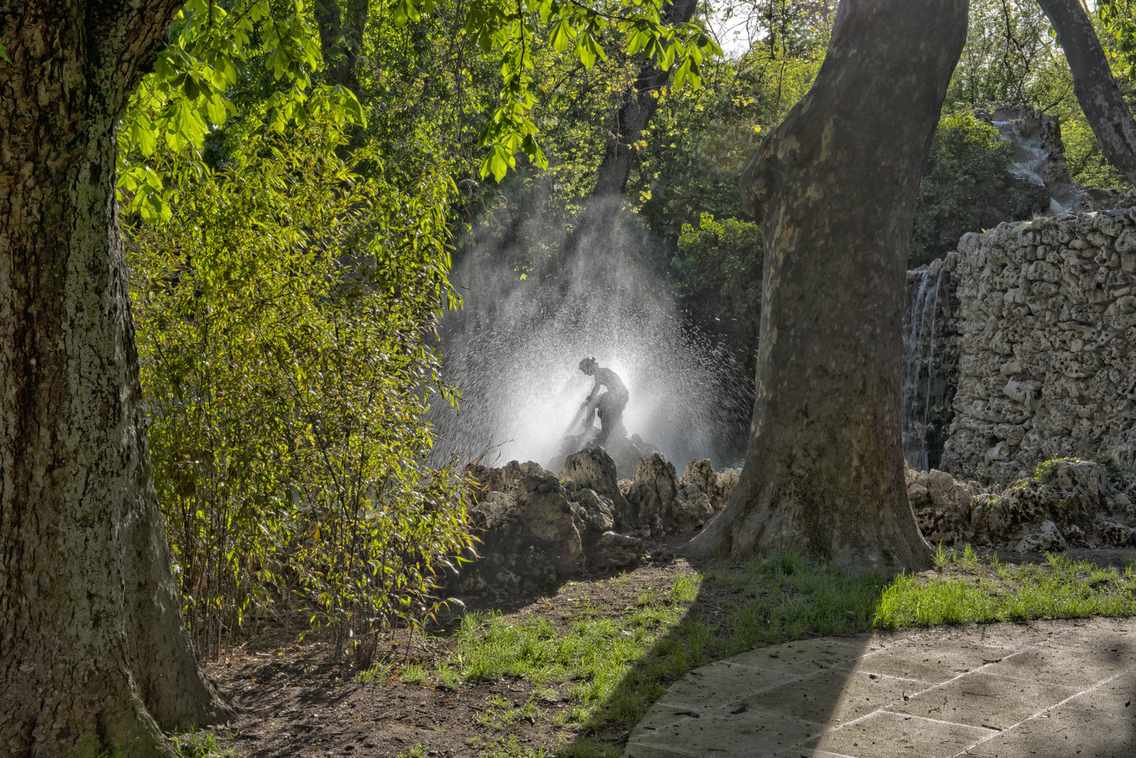
[[[635,565],[648,552],[644,538],[701,528],[725,507],[738,473],[716,473],[709,460],[692,460],[679,478],[654,453],[638,460],[634,480],[617,481],[603,448],[569,455],[559,476],[532,461],[467,466],[478,557],[446,589],[498,594]]]

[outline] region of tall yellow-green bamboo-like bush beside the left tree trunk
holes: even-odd
[[[309,123],[217,170],[159,155],[174,215],[133,228],[154,484],[204,657],[300,611],[367,658],[376,628],[436,606],[435,569],[469,545],[423,419],[433,392],[452,399],[423,339],[453,299],[451,185],[396,186],[343,142]]]

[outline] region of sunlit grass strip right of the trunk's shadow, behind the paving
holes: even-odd
[[[1136,568],[1101,568],[1050,553],[1046,564],[1004,564],[941,551],[936,572],[905,574],[884,591],[880,628],[1136,615]]]

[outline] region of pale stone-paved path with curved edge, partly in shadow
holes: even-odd
[[[698,668],[627,758],[1133,758],[1136,618],[790,642]]]

